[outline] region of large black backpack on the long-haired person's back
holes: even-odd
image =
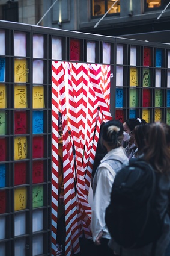
[[[157,178],[150,164],[132,158],[115,176],[105,222],[123,248],[141,248],[156,242],[163,220],[155,207]]]

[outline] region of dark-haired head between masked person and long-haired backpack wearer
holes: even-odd
[[[138,151],[136,152],[135,157],[138,157],[144,151],[149,128],[150,128],[150,124],[146,123],[144,125],[135,126],[133,130],[135,145],[138,148]]]

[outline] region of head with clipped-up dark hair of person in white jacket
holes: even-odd
[[[121,146],[123,140],[123,124],[119,120],[111,120],[103,125],[102,143],[107,151]]]

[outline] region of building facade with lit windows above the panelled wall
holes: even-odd
[[[0,0],[0,18],[169,43],[169,0]]]

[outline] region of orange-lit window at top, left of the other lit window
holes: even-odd
[[[113,6],[112,6],[113,5]],[[112,7],[112,8],[111,8]],[[111,8],[111,10],[109,10]],[[92,0],[92,16],[120,13],[120,0]]]

